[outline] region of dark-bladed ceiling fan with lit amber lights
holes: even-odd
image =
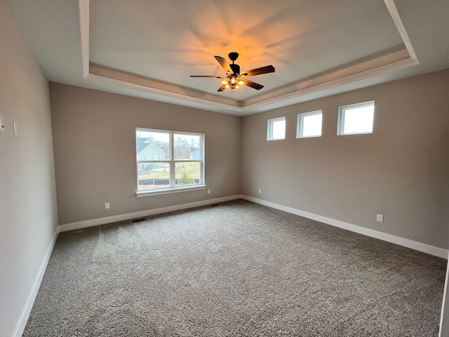
[[[242,91],[245,86],[254,88],[256,90],[262,89],[264,86],[262,84],[255,83],[246,79],[246,77],[267,74],[269,72],[274,72],[274,67],[272,65],[266,65],[265,67],[255,68],[253,70],[248,70],[246,72],[240,72],[240,66],[234,63],[237,58],[239,58],[239,53],[233,51],[229,53],[229,59],[232,60],[232,64],[228,65],[225,58],[221,56],[214,56],[214,58],[220,63],[222,68],[226,71],[225,76],[220,75],[190,75],[190,77],[214,77],[216,79],[221,79],[220,88],[218,91]]]

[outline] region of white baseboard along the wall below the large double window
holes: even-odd
[[[140,211],[135,213],[120,214],[118,216],[107,216],[106,218],[97,218],[92,220],[79,221],[76,223],[65,223],[59,225],[60,232],[67,232],[67,230],[79,230],[80,228],[92,227],[97,225],[105,225],[107,223],[116,223],[117,221],[130,220],[135,218],[143,218],[145,216],[154,216],[155,214],[168,213],[173,211],[180,211],[181,209],[192,209],[194,207],[206,206],[216,204],[217,202],[224,202],[234,199],[240,199],[240,195],[232,195],[229,197],[222,197],[217,199],[208,199],[203,201],[191,202],[189,204],[180,204],[175,206],[162,207],[160,209],[149,209],[147,211]]]

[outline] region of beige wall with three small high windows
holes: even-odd
[[[243,118],[242,194],[448,249],[448,88],[445,70]],[[374,133],[337,136],[338,107],[370,100]],[[323,136],[296,139],[320,109]],[[286,140],[267,141],[283,116]]]

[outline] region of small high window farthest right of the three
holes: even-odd
[[[373,133],[374,101],[340,107],[337,135]]]

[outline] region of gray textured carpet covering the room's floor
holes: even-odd
[[[445,265],[229,201],[61,233],[23,336],[438,336]]]

